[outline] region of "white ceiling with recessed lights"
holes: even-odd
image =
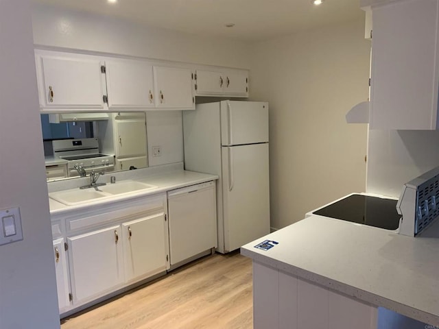
[[[359,0],[33,0],[201,36],[263,40],[361,19]],[[235,23],[234,27],[225,27]]]

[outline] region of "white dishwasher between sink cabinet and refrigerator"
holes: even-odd
[[[169,191],[167,206],[171,267],[217,247],[214,181]]]

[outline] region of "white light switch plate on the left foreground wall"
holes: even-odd
[[[0,210],[0,245],[23,240],[20,208]]]

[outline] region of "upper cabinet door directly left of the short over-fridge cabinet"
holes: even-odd
[[[195,108],[191,70],[154,66],[154,84],[157,108]]]

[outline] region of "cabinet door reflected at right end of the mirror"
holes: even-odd
[[[143,119],[115,120],[117,158],[145,156],[146,150],[146,123]]]

